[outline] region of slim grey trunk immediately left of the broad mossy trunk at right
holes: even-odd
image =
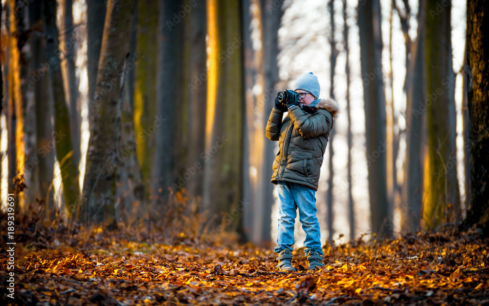
[[[422,208],[422,121],[424,113],[419,111],[420,102],[426,100],[426,75],[423,63],[424,51],[424,0],[420,0],[418,12],[418,34],[410,43],[411,61],[406,70],[406,162],[402,190],[401,229],[417,232],[421,225]]]

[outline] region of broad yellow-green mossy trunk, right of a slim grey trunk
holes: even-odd
[[[437,12],[426,1],[426,84],[428,155],[424,179],[423,220],[434,229],[458,218],[460,194],[455,146],[455,74],[452,69],[451,3]],[[419,106],[421,112],[425,109]]]

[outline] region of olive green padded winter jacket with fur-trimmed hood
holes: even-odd
[[[282,121],[283,111],[272,109],[267,123],[267,138],[277,141],[279,151],[273,162],[271,182],[306,185],[317,191],[319,172],[338,104],[333,99],[318,102],[314,114],[292,106]]]

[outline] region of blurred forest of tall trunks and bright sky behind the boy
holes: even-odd
[[[489,230],[487,1],[1,4],[2,214],[274,241],[265,126],[312,71],[340,107],[322,241]]]

